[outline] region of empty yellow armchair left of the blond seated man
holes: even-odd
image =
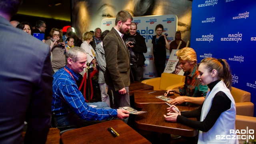
[[[144,84],[154,86],[154,90],[178,89],[179,86],[184,85],[184,82],[185,76],[169,73],[162,73],[160,78],[151,78],[142,81]]]

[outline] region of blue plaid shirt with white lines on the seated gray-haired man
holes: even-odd
[[[88,106],[76,85],[79,75],[67,66],[65,68],[70,71],[74,78],[64,68],[53,75],[52,111],[56,115],[60,116],[74,111],[83,120],[104,120],[117,117],[116,109],[97,109]]]

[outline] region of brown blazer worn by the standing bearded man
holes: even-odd
[[[106,58],[105,80],[116,91],[130,86],[130,54],[118,32],[112,28],[103,40]],[[132,76],[131,76],[132,77]]]

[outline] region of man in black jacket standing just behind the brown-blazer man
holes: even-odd
[[[129,34],[123,36],[124,41],[130,52],[130,67],[134,81],[143,80],[142,66],[146,60],[143,53],[147,52],[145,38],[137,32],[137,24],[132,22]]]

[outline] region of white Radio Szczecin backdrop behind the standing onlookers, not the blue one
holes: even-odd
[[[115,25],[116,18],[105,18],[101,22],[102,32],[104,30],[111,30]],[[175,38],[177,31],[178,18],[174,14],[159,15],[159,16],[138,16],[133,17],[133,21],[137,24],[137,32],[145,38],[147,53],[144,53],[146,58],[145,65],[143,66],[143,78],[155,78],[157,77],[156,68],[153,62],[153,44],[152,38],[156,35],[156,25],[162,24],[164,30],[162,34],[168,34],[166,37],[169,44]],[[170,57],[170,51],[166,49],[166,63]]]

